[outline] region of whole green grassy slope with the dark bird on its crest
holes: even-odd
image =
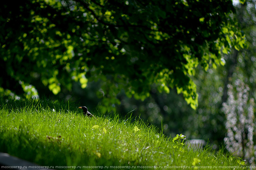
[[[143,169],[138,166],[162,166],[162,169],[168,169],[165,166],[189,166],[185,169],[212,166],[212,169],[222,169],[219,166],[243,163],[222,151],[213,154],[209,147],[189,149],[182,145],[181,138],[172,141],[141,120],[131,123],[134,120],[131,116],[120,118],[117,114],[96,112],[97,119],[91,119],[84,117],[75,103],[46,99],[0,97],[0,105],[0,152],[55,169],[55,166],[81,166],[82,169],[83,166],[135,166],[136,169]]]

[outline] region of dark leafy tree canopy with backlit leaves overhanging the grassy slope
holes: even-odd
[[[121,89],[144,100],[156,84],[196,108],[197,65],[224,64],[221,51],[244,44],[231,0],[4,1],[0,11],[2,93],[57,95],[100,80],[109,105]]]

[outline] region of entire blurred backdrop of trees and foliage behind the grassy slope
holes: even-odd
[[[230,152],[250,147],[238,154],[255,164],[255,128],[246,130],[255,126],[255,0],[26,2],[1,7],[2,95],[132,111],[163,125],[167,136],[209,139],[219,149],[230,137],[228,108],[239,108],[232,96],[241,94],[242,82],[250,100],[239,113],[252,121],[243,124],[237,115],[232,128],[246,137],[226,144]],[[8,18],[16,19],[8,25]]]

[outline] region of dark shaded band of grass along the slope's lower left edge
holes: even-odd
[[[0,133],[0,152],[9,153],[12,156],[42,165],[54,166],[55,169],[63,169],[61,166],[94,166],[92,169],[104,169],[105,166],[134,166],[131,161],[124,162],[121,158],[105,155],[97,152],[89,152],[90,148],[72,150],[72,145],[61,144],[61,137],[45,137],[45,141],[37,140],[20,131],[17,136],[12,131],[3,130]],[[40,142],[41,141],[41,142]],[[58,143],[58,144],[56,144]],[[105,152],[106,153],[106,152]],[[58,168],[57,166],[60,166]],[[102,166],[98,167],[97,166]],[[142,164],[136,166],[142,166]],[[96,168],[95,168],[96,167]],[[122,168],[128,169],[128,168]]]

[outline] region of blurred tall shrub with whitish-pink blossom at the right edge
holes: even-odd
[[[224,142],[229,152],[244,157],[251,165],[255,165],[254,99],[249,99],[249,92],[248,85],[239,79],[235,81],[234,87],[228,85],[228,100],[223,103],[223,111],[227,119]]]

